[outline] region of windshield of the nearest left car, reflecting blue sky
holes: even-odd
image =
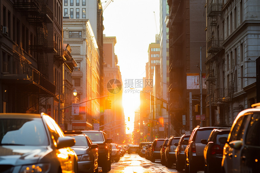
[[[47,146],[43,121],[38,119],[0,119],[0,145]]]

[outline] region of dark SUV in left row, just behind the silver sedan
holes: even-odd
[[[98,166],[102,167],[102,172],[111,170],[111,138],[107,138],[105,132],[99,130],[84,130],[82,133],[89,136],[94,144],[98,144]]]

